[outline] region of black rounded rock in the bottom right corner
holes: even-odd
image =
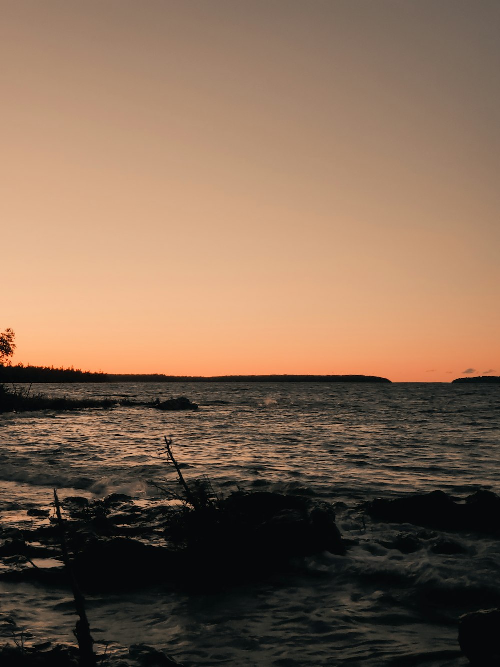
[[[472,665],[500,665],[500,609],[481,610],[460,618],[460,648]]]

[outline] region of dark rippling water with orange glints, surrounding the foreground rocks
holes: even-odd
[[[459,614],[500,601],[492,580],[500,544],[451,536],[465,554],[387,545],[415,526],[371,522],[359,504],[377,496],[445,490],[500,492],[500,387],[458,384],[79,384],[37,385],[71,397],[113,396],[112,410],[0,417],[3,526],[30,507],[49,507],[51,490],[153,498],[148,482],[173,476],[159,456],[163,436],[224,494],[299,492],[341,502],[338,524],[353,540],[345,557],[309,558],[295,574],[217,596],[148,590],[90,598],[96,636],[112,655],[145,642],[192,666],[465,665],[457,654]],[[33,390],[32,390],[33,391]],[[188,396],[197,412],[119,406],[123,396]],[[448,536],[450,537],[450,536]],[[492,583],[493,581],[493,583]],[[71,641],[67,592],[0,584],[0,612],[37,640]],[[43,617],[37,608],[43,607]]]

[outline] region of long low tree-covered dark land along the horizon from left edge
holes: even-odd
[[[167,376],[164,374],[91,373],[75,368],[0,366],[1,382],[391,382],[363,375]]]

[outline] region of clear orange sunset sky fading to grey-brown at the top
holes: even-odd
[[[0,9],[13,363],[500,375],[497,0]]]

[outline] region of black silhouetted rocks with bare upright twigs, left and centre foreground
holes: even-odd
[[[14,644],[0,647],[3,667],[97,667],[113,664],[93,650],[85,612],[86,592],[126,592],[144,586],[163,592],[213,592],[261,580],[293,568],[297,558],[329,551],[344,555],[347,542],[335,524],[331,504],[303,496],[270,492],[217,494],[208,480],[187,482],[175,460],[171,440],[163,454],[175,468],[177,484],[151,484],[161,494],[147,509],[130,496],[104,500],[69,497],[53,511],[33,509],[44,520],[24,530],[0,530],[0,558],[7,566],[2,580],[67,585],[79,618],[79,648],[51,642],[26,647],[15,632]],[[60,568],[44,568],[43,559],[57,559]],[[162,667],[177,662],[154,648],[131,646],[119,667]]]

